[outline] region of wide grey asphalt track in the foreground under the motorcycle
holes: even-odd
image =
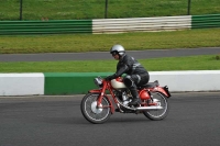
[[[0,97],[0,146],[219,146],[220,92],[173,93],[163,121],[114,113],[87,122],[82,96]]]

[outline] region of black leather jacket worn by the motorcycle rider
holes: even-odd
[[[143,75],[148,74],[147,70],[133,57],[124,54],[121,56],[118,65],[117,65],[117,72],[116,77],[120,77],[123,74],[127,75]]]

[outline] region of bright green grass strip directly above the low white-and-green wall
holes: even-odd
[[[148,71],[220,70],[219,55],[140,59]],[[80,66],[79,66],[80,65]],[[114,72],[117,60],[0,63],[0,72]]]

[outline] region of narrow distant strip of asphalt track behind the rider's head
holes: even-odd
[[[182,57],[194,55],[219,55],[220,47],[128,50],[136,59],[158,57]],[[0,54],[0,61],[58,61],[58,60],[112,59],[109,52],[95,53],[46,53],[46,54]]]

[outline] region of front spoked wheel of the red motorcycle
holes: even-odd
[[[98,97],[98,93],[88,93],[80,105],[84,117],[95,124],[105,123],[111,115],[110,102],[106,97],[101,101],[101,108],[97,108]]]

